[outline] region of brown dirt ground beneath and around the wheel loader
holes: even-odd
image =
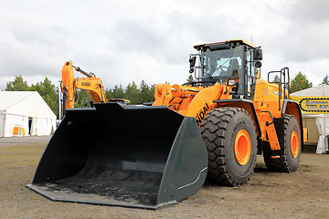
[[[26,138],[29,139],[29,138]],[[27,189],[47,138],[0,140],[0,218],[328,218],[329,155],[302,152],[297,172],[267,172],[262,157],[249,184],[206,183],[162,210],[52,202]]]

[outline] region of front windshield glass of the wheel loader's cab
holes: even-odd
[[[201,52],[203,80],[227,78],[242,78],[242,54],[243,47],[229,47],[211,51],[207,48]]]

